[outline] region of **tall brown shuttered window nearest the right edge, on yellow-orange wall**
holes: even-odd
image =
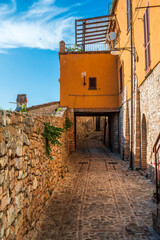
[[[150,36],[149,36],[149,9],[146,8],[143,16],[144,25],[144,51],[145,51],[145,71],[150,69],[151,57],[150,57]]]

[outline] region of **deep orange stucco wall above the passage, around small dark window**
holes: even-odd
[[[117,60],[109,53],[64,53],[60,57],[60,105],[70,108],[118,108]],[[86,85],[81,76],[86,72]],[[89,90],[89,77],[97,90]]]

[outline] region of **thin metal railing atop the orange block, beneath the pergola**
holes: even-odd
[[[74,44],[66,44],[65,52],[91,52],[91,51],[108,51],[108,45],[105,43],[98,44],[87,44],[85,46],[85,51],[83,50],[83,46],[74,45]]]

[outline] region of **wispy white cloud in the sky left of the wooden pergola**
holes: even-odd
[[[57,7],[55,0],[39,0],[21,14],[16,14],[14,0],[0,5],[0,12],[2,9],[5,18],[0,17],[0,52],[18,47],[54,50],[61,40],[73,42],[74,19],[62,17],[60,14],[67,15],[69,9]]]

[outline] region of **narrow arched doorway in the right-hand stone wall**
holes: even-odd
[[[141,169],[147,168],[147,123],[145,114],[142,117],[142,145],[141,145]]]

